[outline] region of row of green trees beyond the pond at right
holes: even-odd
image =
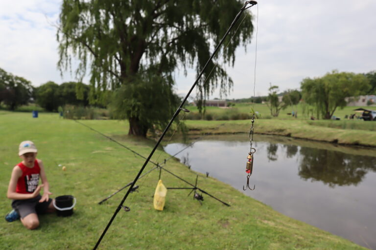
[[[280,93],[279,87],[270,83],[268,96],[227,101],[232,104],[265,102],[274,117],[288,106],[294,110],[294,105],[302,101],[305,113],[316,119],[330,119],[337,108],[347,105],[346,97],[359,95],[376,95],[376,71],[355,74],[333,70],[323,77],[303,79],[300,90],[289,89]]]

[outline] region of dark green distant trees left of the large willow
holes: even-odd
[[[0,105],[9,110],[28,103],[36,103],[47,111],[57,111],[66,104],[87,106],[89,92],[88,85],[76,82],[47,82],[33,87],[30,81],[0,68]]]

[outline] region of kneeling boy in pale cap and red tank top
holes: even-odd
[[[53,212],[52,199],[49,195],[49,185],[45,168],[41,160],[37,159],[37,147],[31,141],[24,141],[19,146],[18,155],[22,162],[13,168],[8,186],[7,197],[12,199],[13,210],[5,216],[8,222],[17,220],[27,229],[36,229],[39,226],[38,214]],[[39,184],[39,177],[42,185]],[[43,195],[39,192],[44,188]]]

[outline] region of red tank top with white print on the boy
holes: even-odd
[[[32,193],[38,187],[39,184],[39,173],[41,168],[39,167],[38,161],[35,160],[34,167],[26,167],[22,162],[20,162],[18,167],[22,170],[22,176],[18,179],[16,192],[17,193]]]

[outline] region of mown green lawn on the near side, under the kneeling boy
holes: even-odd
[[[82,121],[122,144],[147,156],[154,142],[126,136],[128,124],[111,120]],[[249,122],[249,121],[248,121]],[[240,125],[245,125],[241,124]],[[247,124],[248,125],[248,124]],[[144,160],[112,141],[58,114],[0,111],[0,192],[5,215],[10,201],[5,198],[12,167],[20,159],[18,145],[32,140],[38,158],[44,161],[50,190],[54,196],[73,195],[77,205],[71,217],[54,214],[40,217],[37,230],[25,229],[21,222],[0,222],[0,249],[92,249],[115,212],[125,191],[103,205],[97,203],[133,180]],[[159,159],[158,159],[159,157]],[[157,150],[153,161],[168,155]],[[61,164],[67,171],[62,171]],[[151,168],[147,166],[146,170]],[[166,168],[194,183],[195,175],[176,160]],[[188,191],[169,190],[164,211],[152,206],[158,171],[139,180],[139,192],[126,200],[130,212],[121,210],[99,249],[364,249],[348,240],[288,218],[248,197],[229,185],[200,175],[199,185],[230,203],[225,207],[204,194],[201,206],[187,197]],[[167,187],[186,187],[162,172]]]

